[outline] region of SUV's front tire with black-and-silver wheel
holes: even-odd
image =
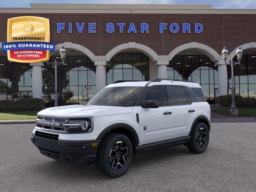
[[[132,155],[130,139],[124,134],[110,133],[100,142],[95,163],[102,174],[117,178],[129,169]]]

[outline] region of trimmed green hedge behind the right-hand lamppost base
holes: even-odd
[[[220,96],[220,104],[225,107],[231,106],[231,95]],[[236,107],[256,107],[256,98],[243,98],[235,95]]]

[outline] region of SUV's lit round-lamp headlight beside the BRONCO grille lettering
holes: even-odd
[[[68,132],[91,132],[92,126],[89,119],[69,119],[63,126],[66,126]]]

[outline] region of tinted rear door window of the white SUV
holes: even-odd
[[[188,96],[183,87],[169,86],[172,105],[188,105]]]

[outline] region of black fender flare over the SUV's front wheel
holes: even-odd
[[[97,140],[101,140],[108,132],[117,129],[117,128],[124,128],[128,131],[130,131],[132,133],[132,135],[134,136],[134,140],[135,140],[135,145],[138,146],[139,145],[139,137],[137,132],[135,131],[135,129],[125,123],[116,123],[116,124],[112,124],[110,126],[108,126],[107,128],[105,128],[97,137]]]

